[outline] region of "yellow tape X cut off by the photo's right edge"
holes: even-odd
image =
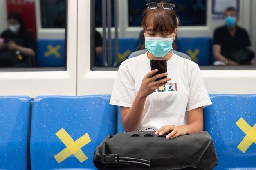
[[[246,134],[245,138],[237,146],[243,153],[252,145],[256,144],[256,124],[251,127],[243,118],[240,118],[236,125]]]

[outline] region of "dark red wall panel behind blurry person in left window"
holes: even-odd
[[[7,4],[7,14],[10,12],[18,12],[22,15],[23,21],[27,26],[28,31],[30,31],[35,39],[37,39],[36,34],[36,6],[34,0],[6,0]]]

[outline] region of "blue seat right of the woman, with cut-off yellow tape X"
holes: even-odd
[[[213,105],[204,108],[204,129],[216,147],[215,169],[256,169],[256,140],[251,143],[250,139],[256,139],[256,94],[216,94],[210,98]],[[249,133],[245,127],[250,129]],[[240,144],[244,138],[247,142]]]

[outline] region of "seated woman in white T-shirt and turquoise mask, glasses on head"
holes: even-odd
[[[173,139],[203,130],[203,107],[212,103],[198,65],[171,52],[177,34],[173,7],[147,4],[142,26],[148,52],[119,67],[110,104],[121,106],[126,132],[153,128]],[[157,58],[167,60],[168,73],[152,76],[157,70],[150,71],[150,59]]]

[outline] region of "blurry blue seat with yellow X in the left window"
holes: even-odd
[[[37,41],[37,67],[65,67],[65,39]]]

